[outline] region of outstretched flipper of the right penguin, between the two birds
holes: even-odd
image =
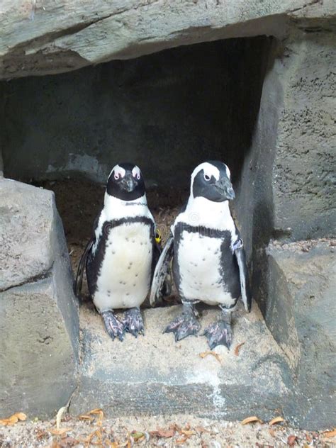
[[[152,289],[150,291],[150,304],[155,305],[159,294],[164,288],[164,281],[169,273],[170,260],[174,255],[174,236],[172,233],[169,234],[168,240],[164,245],[164,248],[159,257],[159,261],[155,267],[153,279],[152,279]]]

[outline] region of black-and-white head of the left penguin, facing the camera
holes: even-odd
[[[145,195],[145,182],[140,168],[133,163],[120,163],[108,176],[106,193],[122,201],[134,201]]]

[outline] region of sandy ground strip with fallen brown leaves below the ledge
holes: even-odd
[[[336,447],[336,437],[331,436],[284,423],[242,425],[186,415],[106,420],[96,410],[82,418],[64,415],[59,430],[55,420],[0,426],[0,447]]]

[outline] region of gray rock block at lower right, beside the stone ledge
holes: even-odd
[[[331,427],[336,412],[335,246],[330,241],[269,245],[267,257],[265,319],[294,374],[296,395],[286,412],[301,427]]]

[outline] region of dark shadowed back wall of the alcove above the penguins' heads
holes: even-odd
[[[251,144],[271,39],[223,40],[7,82],[6,177],[82,173],[105,182],[121,160],[145,179],[189,185],[204,159],[235,179]]]

